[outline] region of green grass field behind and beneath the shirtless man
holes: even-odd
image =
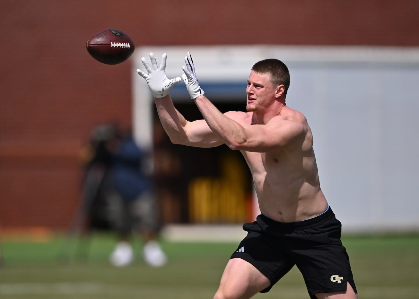
[[[63,238],[48,242],[3,240],[0,267],[2,299],[212,298],[236,243],[162,242],[169,257],[163,268],[149,268],[140,259],[114,268],[108,255],[114,237],[95,234],[85,259],[57,259]],[[363,299],[419,298],[419,235],[344,236],[352,271]],[[67,245],[66,245],[67,246]],[[69,246],[69,247],[68,247]],[[69,252],[75,252],[74,243]],[[140,253],[140,242],[134,243]],[[308,298],[294,267],[269,293],[254,298]]]

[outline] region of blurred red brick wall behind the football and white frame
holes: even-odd
[[[131,60],[96,62],[93,32],[118,28],[137,46],[419,46],[418,15],[416,0],[0,0],[2,226],[65,227],[91,127],[131,123]]]

